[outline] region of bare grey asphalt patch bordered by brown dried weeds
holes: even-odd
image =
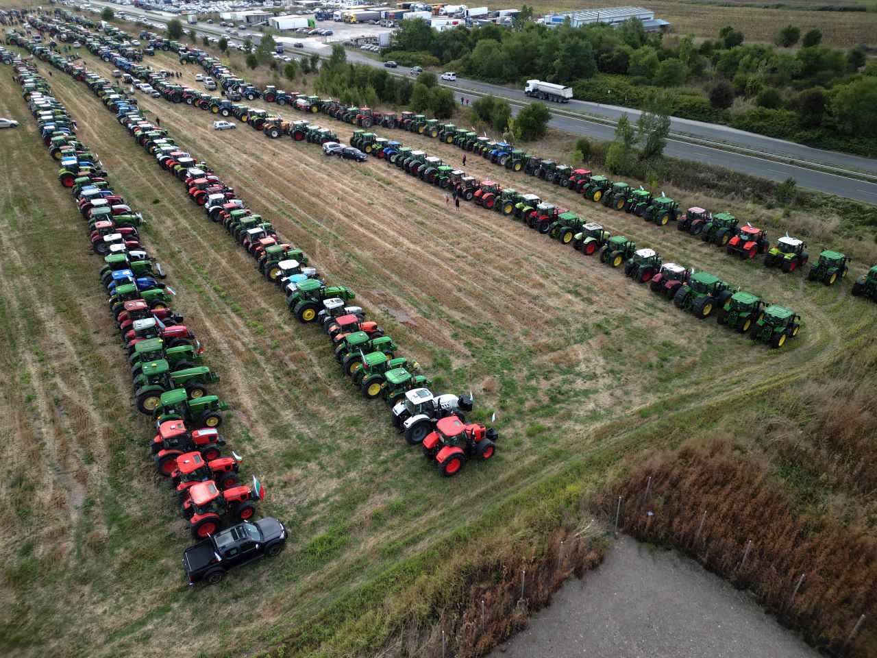
[[[622,537],[603,564],[488,658],[818,658],[743,592]]]

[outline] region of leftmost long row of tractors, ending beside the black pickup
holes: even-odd
[[[239,455],[222,455],[217,428],[228,404],[208,390],[219,377],[201,365],[203,347],[170,308],[175,291],[161,283],[165,273],[141,241],[141,215],[112,189],[36,69],[14,61],[14,76],[46,148],[61,161],[59,181],[72,192],[91,250],[102,259],[97,274],[125,349],[135,404],[155,421],[156,470],[168,478],[194,537],[215,533],[227,519],[252,518],[265,490],[255,477],[253,487],[241,484]]]

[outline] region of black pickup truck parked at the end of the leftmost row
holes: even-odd
[[[200,581],[215,585],[230,569],[279,554],[286,537],[286,528],[277,519],[244,521],[187,548],[182,554],[182,569],[190,585]]]

